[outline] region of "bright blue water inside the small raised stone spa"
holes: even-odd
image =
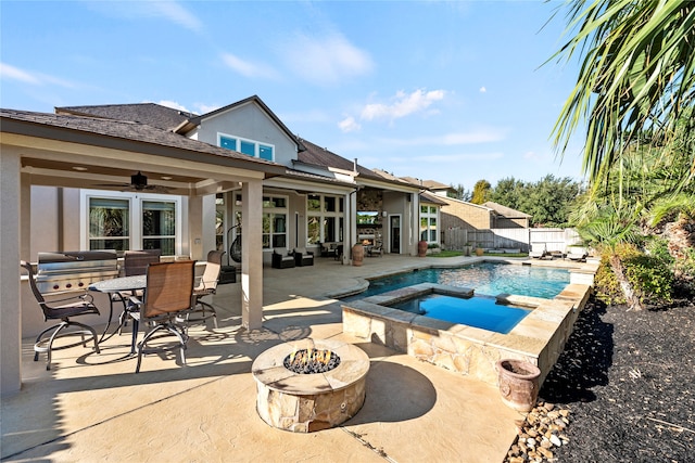
[[[460,298],[428,294],[391,306],[395,309],[452,323],[507,334],[531,310],[496,304],[494,297]]]

